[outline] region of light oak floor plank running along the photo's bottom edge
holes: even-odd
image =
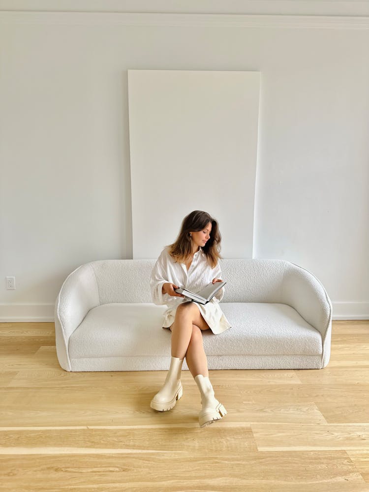
[[[344,451],[248,452],[239,457],[227,453],[185,457],[178,450],[171,456],[163,452],[17,454],[0,456],[0,464],[1,475],[12,473],[14,490],[22,487],[22,491],[368,492],[368,484]],[[28,487],[23,485],[31,470],[38,489],[29,481]]]

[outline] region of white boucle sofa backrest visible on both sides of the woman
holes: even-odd
[[[152,303],[150,277],[156,260],[97,260],[90,263],[100,304]],[[223,259],[226,280],[221,302],[281,303],[283,273],[288,263],[277,259]]]

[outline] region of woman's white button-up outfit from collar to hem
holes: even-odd
[[[188,271],[184,263],[174,261],[169,254],[169,246],[166,246],[156,260],[150,278],[151,295],[154,304],[158,306],[166,305],[168,307],[163,314],[162,327],[168,328],[171,326],[177,307],[183,302],[189,301],[187,297],[175,297],[169,294],[163,294],[162,287],[164,283],[174,283],[192,292],[199,292],[211,283],[213,278],[221,278],[219,262],[215,268],[211,268],[201,246],[194,253]],[[199,307],[205,321],[215,334],[222,333],[228,328],[231,328],[231,325],[219,307],[219,301],[224,296],[224,288],[222,287],[213,299],[205,305],[192,301]]]

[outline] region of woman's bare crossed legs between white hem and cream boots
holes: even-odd
[[[208,361],[203,347],[202,331],[210,327],[198,306],[192,302],[180,304],[169,328],[172,332],[172,357],[186,358],[188,369],[195,378],[198,374],[209,376]]]

